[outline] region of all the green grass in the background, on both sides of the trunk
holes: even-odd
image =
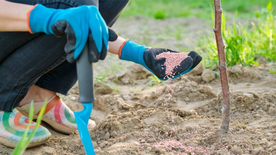
[[[262,56],[268,61],[276,61],[276,5],[267,0],[222,0],[223,19],[222,35],[225,42],[227,66],[242,64],[259,65],[257,58]],[[199,17],[214,23],[213,0],[132,0],[122,16],[142,15],[155,19],[171,17]],[[235,18],[234,18],[235,17]],[[252,20],[254,18],[254,20]],[[182,20],[182,19],[181,19]],[[228,21],[233,21],[231,24]],[[146,18],[147,21],[147,18]],[[242,21],[242,24],[239,23]],[[247,23],[245,23],[247,21]],[[254,21],[254,22],[251,22]],[[200,23],[197,23],[200,24]],[[182,40],[182,26],[175,31],[166,32],[177,41]],[[148,29],[143,34],[143,41],[148,40]],[[160,41],[164,40],[158,39]],[[158,45],[157,45],[158,46]],[[185,51],[176,44],[178,51]],[[183,50],[182,50],[183,49]],[[217,66],[217,46],[214,33],[202,36],[197,51],[202,54],[205,67]],[[154,79],[152,79],[154,80]],[[149,82],[152,84],[153,81]]]

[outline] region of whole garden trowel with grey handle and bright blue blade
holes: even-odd
[[[109,30],[109,41],[115,41],[117,34]],[[82,111],[74,112],[79,136],[81,137],[87,155],[95,155],[89,131],[87,129],[88,120],[92,111],[94,99],[94,83],[93,83],[93,65],[88,60],[88,45],[85,44],[82,53],[77,59],[77,76],[79,81],[79,102],[84,106]]]

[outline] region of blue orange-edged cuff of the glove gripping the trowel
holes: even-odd
[[[56,9],[47,8],[41,4],[36,4],[27,13],[27,24],[31,34],[44,32],[53,34],[51,26],[48,26],[51,15]]]

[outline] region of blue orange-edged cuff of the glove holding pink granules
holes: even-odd
[[[145,45],[136,44],[130,40],[126,40],[122,44],[119,51],[119,59],[132,61],[137,64],[145,65],[144,61],[144,51],[146,49]]]

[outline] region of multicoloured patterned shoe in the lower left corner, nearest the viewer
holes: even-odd
[[[23,136],[27,126],[30,125],[29,134],[36,126],[35,122],[28,123],[28,117],[21,114],[17,109],[12,112],[0,111],[0,143],[14,148]],[[45,127],[39,126],[28,147],[41,145],[48,141],[50,137],[51,133]]]

